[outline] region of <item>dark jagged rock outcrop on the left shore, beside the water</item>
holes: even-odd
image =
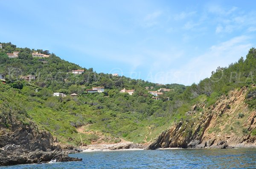
[[[1,127],[0,133],[0,166],[82,160],[61,152],[58,140],[47,131],[39,131],[33,122],[24,125],[12,119],[12,126]]]

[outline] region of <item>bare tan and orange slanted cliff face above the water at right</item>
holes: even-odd
[[[246,91],[232,91],[208,108],[204,103],[193,106],[188,120],[162,132],[147,149],[256,146],[256,111],[244,103]]]

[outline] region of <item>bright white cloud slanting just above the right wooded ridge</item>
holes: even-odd
[[[238,61],[241,56],[245,56],[252,46],[247,40],[249,37],[239,36],[211,46],[204,54],[192,56],[190,60],[184,61],[184,65],[180,68],[166,70],[154,82],[184,85],[198,83],[209,77],[218,66],[226,67]]]

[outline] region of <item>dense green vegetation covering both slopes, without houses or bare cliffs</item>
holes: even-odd
[[[168,84],[157,86],[144,80],[96,73],[92,68],[82,68],[61,60],[55,54],[49,58],[32,57],[32,52],[49,54],[42,49],[16,48],[11,43],[2,43],[0,49],[0,74],[6,75],[6,84],[0,84],[1,119],[5,112],[12,113],[26,123],[26,117],[35,121],[65,143],[80,143],[76,128],[86,125],[82,139],[90,143],[103,133],[108,140],[123,137],[134,142],[149,141],[166,129],[171,123],[189,117],[185,115],[196,103],[212,105],[221,95],[231,89],[247,86],[252,88],[247,103],[255,107],[256,49],[250,49],[247,58],[227,68],[218,68],[210,78],[192,86]],[[6,53],[19,51],[17,58]],[[84,69],[80,75],[72,74],[74,69]],[[35,80],[26,82],[20,75],[33,74]],[[105,86],[105,92],[87,94],[85,89]],[[153,100],[146,86],[172,89],[164,92],[162,100]],[[119,93],[123,88],[135,89],[134,95]],[[79,97],[53,97],[53,92],[76,93]],[[167,101],[166,97],[170,97]],[[3,121],[3,120],[2,120]],[[4,125],[11,125],[7,120]]]

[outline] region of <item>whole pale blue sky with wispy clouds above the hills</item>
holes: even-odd
[[[154,83],[199,83],[256,47],[254,0],[0,0],[0,42]]]

